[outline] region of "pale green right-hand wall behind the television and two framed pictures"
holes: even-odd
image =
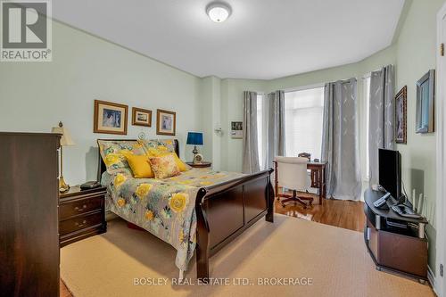
[[[397,91],[408,86],[408,144],[397,145],[402,155],[402,178],[408,191],[425,195],[423,213],[429,219],[429,266],[433,272],[435,259],[435,134],[415,133],[417,80],[436,66],[436,13],[444,0],[413,1],[397,39]]]

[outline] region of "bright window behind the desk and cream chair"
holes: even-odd
[[[324,87],[285,93],[286,156],[310,153],[320,160]]]

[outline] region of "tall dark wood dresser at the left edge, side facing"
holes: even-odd
[[[60,135],[0,132],[2,296],[59,295]]]

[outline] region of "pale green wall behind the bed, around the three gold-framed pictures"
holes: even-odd
[[[76,145],[64,150],[64,176],[75,185],[96,178],[95,139],[156,138],[156,109],[177,111],[183,158],[187,131],[200,128],[202,79],[58,21],[53,62],[0,62],[0,130],[50,132],[59,120]],[[93,133],[95,99],[128,104],[128,136]],[[153,111],[152,128],[131,125],[131,107]],[[166,137],[166,136],[161,136]]]

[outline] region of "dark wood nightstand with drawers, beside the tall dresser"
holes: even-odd
[[[59,194],[59,244],[64,246],[107,231],[104,186],[80,190],[72,186]]]

